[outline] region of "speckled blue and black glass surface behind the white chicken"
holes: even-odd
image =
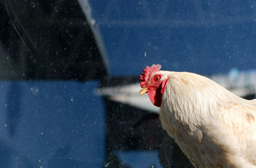
[[[158,109],[137,97],[139,75],[159,63],[255,87],[255,9],[255,1],[0,0],[0,167],[192,167]]]

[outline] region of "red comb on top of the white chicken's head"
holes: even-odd
[[[146,66],[145,69],[143,69],[143,72],[140,75],[140,86],[141,88],[145,88],[147,86],[148,80],[152,73],[158,72],[161,69],[161,65],[152,65],[151,67]]]

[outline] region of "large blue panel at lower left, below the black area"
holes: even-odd
[[[0,167],[102,167],[97,82],[0,82]]]

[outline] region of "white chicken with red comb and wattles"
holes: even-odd
[[[160,107],[161,124],[194,167],[256,167],[256,101],[195,73],[147,66],[140,95]]]

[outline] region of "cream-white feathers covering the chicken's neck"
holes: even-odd
[[[170,72],[168,77],[161,112],[164,118],[175,119],[191,130],[204,125],[205,118],[218,115],[218,104],[237,98],[216,82],[195,73]]]

